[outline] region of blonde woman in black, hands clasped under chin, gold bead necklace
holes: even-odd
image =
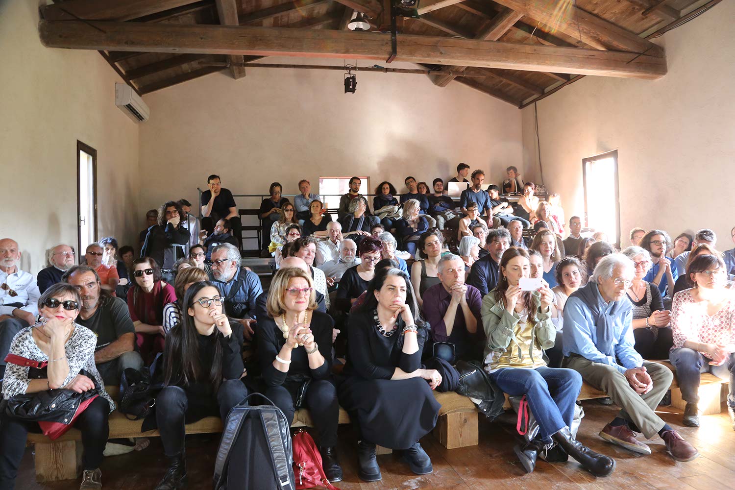
[[[337,461],[340,405],[331,382],[331,329],[334,320],[315,311],[311,275],[297,267],[279,270],[268,291],[268,317],[258,319],[258,356],[265,396],[293,420],[298,408],[309,408],[318,432],[326,478],[342,480]]]

